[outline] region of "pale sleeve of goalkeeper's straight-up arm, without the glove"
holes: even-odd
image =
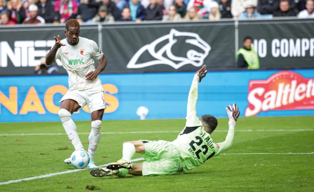
[[[196,103],[198,100],[198,76],[192,81],[192,85],[189,91],[189,96],[187,98],[187,127],[194,127],[201,124],[197,113],[196,113]]]

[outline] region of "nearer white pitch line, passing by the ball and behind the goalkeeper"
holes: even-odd
[[[311,153],[291,153],[291,152],[290,153],[222,153],[220,155],[314,155],[314,152],[311,152]],[[143,158],[133,159],[132,162],[137,162],[137,161],[141,161],[141,160],[144,160],[144,159]],[[104,164],[104,165],[100,165],[99,167],[105,167],[108,164],[109,163]],[[50,174],[46,174],[46,175],[40,175],[40,176],[29,177],[29,178],[24,178],[24,179],[10,180],[10,181],[6,181],[6,182],[1,182],[0,185],[18,183],[21,181],[29,181],[29,180],[33,180],[33,179],[47,178],[47,177],[52,177],[55,175],[73,173],[73,172],[82,171],[82,170],[86,170],[86,169],[87,168],[85,168],[85,169],[74,169],[74,170],[69,170],[69,171],[63,171],[60,173],[50,173]]]

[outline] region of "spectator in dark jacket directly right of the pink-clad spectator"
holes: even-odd
[[[77,19],[79,22],[91,22],[97,13],[96,7],[88,5],[88,0],[81,0],[78,6],[78,13],[72,14],[69,19]]]

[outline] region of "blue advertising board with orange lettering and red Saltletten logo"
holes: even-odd
[[[105,90],[104,120],[185,118],[194,73],[100,74]],[[0,122],[59,121],[67,75],[0,77]],[[240,116],[314,115],[314,69],[208,72],[199,83],[198,116],[226,117],[236,103]],[[90,120],[85,106],[73,120]]]

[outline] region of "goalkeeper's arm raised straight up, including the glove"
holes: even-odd
[[[198,70],[194,78],[192,80],[192,85],[189,91],[189,96],[187,97],[187,127],[196,126],[199,124],[199,118],[197,117],[196,113],[196,103],[198,100],[198,82],[201,82],[203,77],[205,77],[207,71],[206,71],[206,65],[202,67],[202,69]]]

